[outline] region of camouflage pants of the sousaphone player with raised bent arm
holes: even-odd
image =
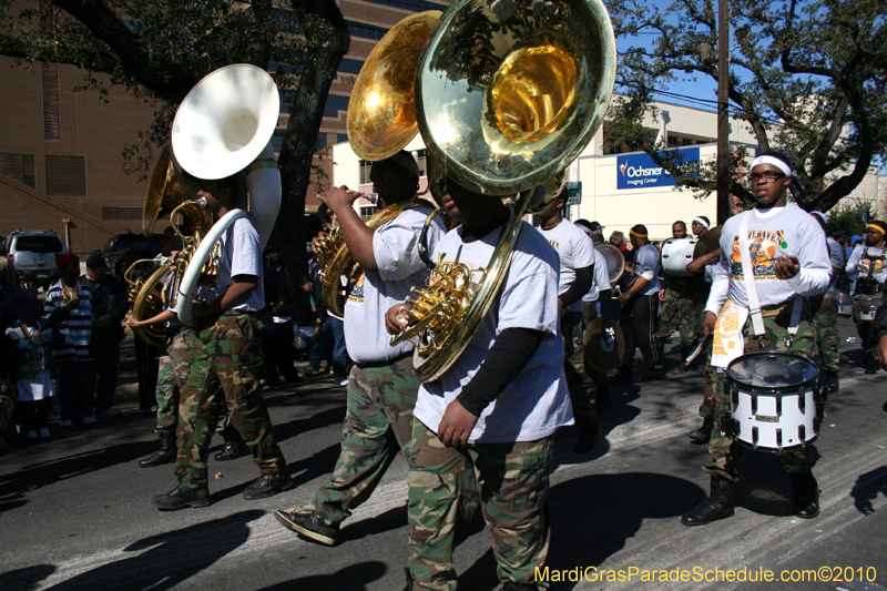
[[[324,522],[341,523],[369,498],[398,451],[409,457],[420,385],[411,357],[381,367],[351,368],[341,452],[333,479],[314,497]]]

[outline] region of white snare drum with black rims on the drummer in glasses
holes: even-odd
[[[759,351],[734,359],[725,394],[733,420],[728,435],[763,451],[801,449],[819,435],[819,369],[799,355]]]

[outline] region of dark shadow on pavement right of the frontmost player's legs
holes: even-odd
[[[549,506],[558,510],[551,514],[547,565],[550,570],[598,567],[622,550],[645,519],[677,519],[705,497],[693,482],[651,472],[595,475],[561,482],[549,493]],[[459,575],[465,589],[493,589],[497,583],[491,549]],[[551,589],[573,589],[574,584],[552,583]]]

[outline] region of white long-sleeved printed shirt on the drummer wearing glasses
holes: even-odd
[[[771,210],[743,212],[734,215],[721,231],[721,272],[715,274],[706,312],[718,314],[726,298],[748,307],[740,254],[742,217],[748,220],[748,249],[754,268],[755,289],[759,305],[775,306],[796,294],[822,294],[832,281],[832,263],[825,243],[825,233],[816,220],[797,205]],[[791,279],[776,277],[774,267],[779,255],[795,256],[801,271]],[[728,288],[718,284],[728,282]]]

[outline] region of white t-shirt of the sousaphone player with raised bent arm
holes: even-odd
[[[428,207],[407,210],[373,233],[373,253],[378,271],[365,271],[345,302],[345,343],[358,364],[387,361],[412,350],[408,340],[391,347],[385,328],[385,313],[424,287],[428,268],[419,256],[419,237]],[[428,228],[428,252],[434,253],[447,232],[440,217]]]

